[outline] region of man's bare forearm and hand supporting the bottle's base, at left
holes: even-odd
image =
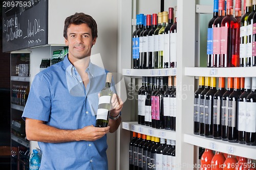
[[[41,120],[26,118],[26,136],[28,140],[58,143],[101,138],[110,131],[110,127],[96,128],[87,126],[77,130],[62,130],[44,124]]]

